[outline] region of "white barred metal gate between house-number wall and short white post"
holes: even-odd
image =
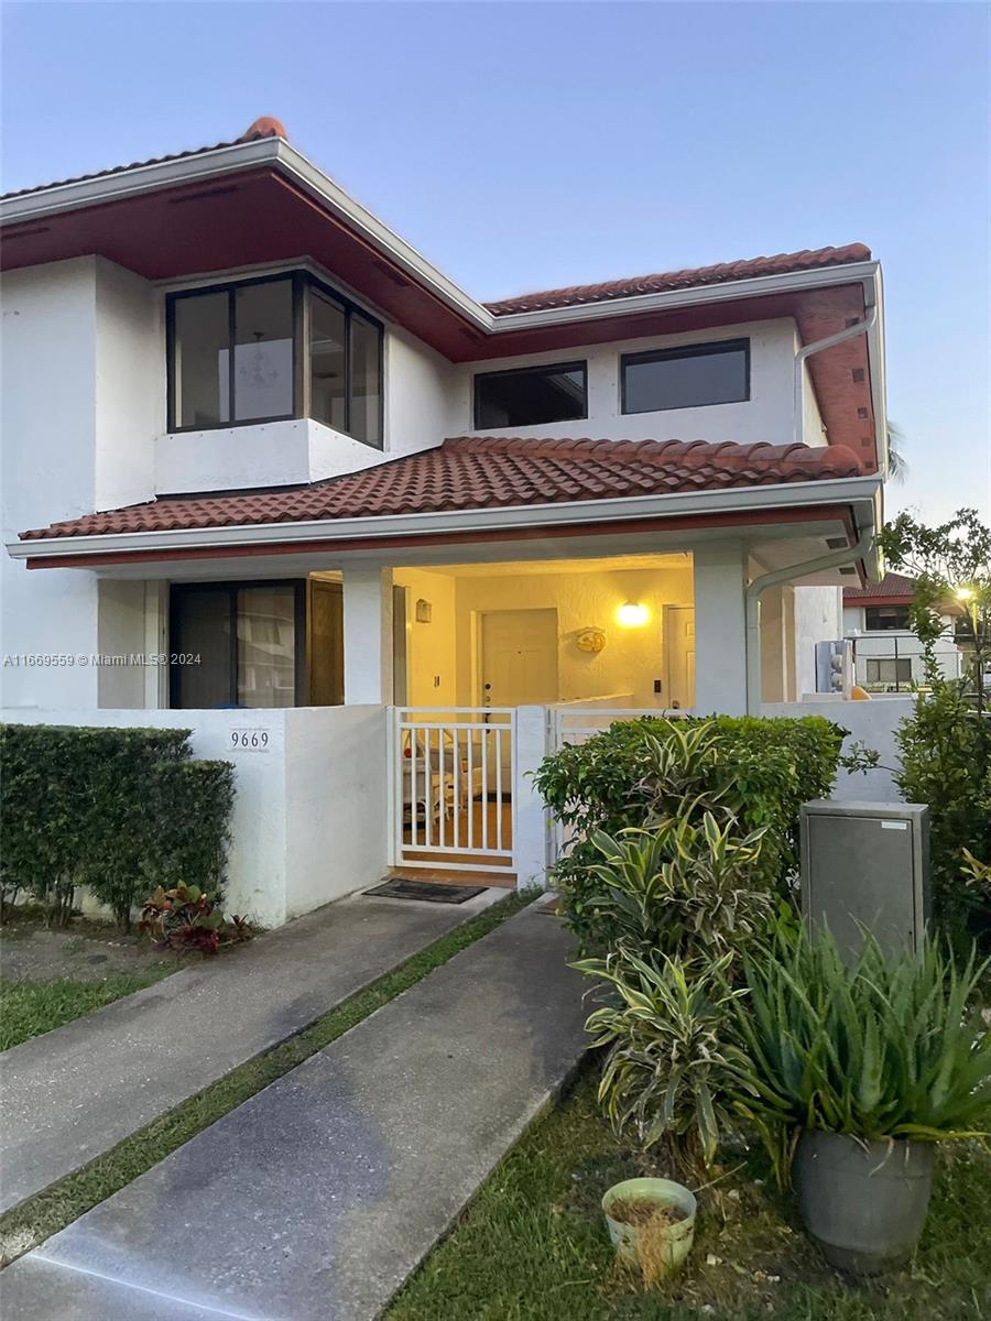
[[[394,707],[391,717],[391,865],[511,872],[515,709]]]

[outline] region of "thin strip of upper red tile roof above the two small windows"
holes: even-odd
[[[869,260],[871,250],[868,247],[863,243],[848,243],[846,247],[780,252],[777,256],[754,256],[744,262],[720,262],[719,266],[703,266],[687,271],[669,271],[665,275],[636,275],[626,280],[608,280],[604,284],[572,284],[567,289],[519,293],[513,299],[486,303],[485,306],[497,317],[505,317],[511,312],[571,308],[581,303],[632,299],[638,293],[690,289],[700,284],[727,284],[731,280],[756,280],[762,275],[786,275],[793,271],[814,271],[825,266],[846,266],[850,262]]]

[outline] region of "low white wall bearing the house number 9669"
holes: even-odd
[[[262,926],[279,926],[371,885],[386,871],[386,716],[381,707],[16,708],[1,719],[30,725],[192,729],[194,757],[234,762],[225,908]]]

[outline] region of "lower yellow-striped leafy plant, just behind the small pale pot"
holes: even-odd
[[[727,1042],[731,955],[688,970],[679,959],[647,962],[626,951],[583,959],[581,972],[610,984],[618,1001],[585,1022],[608,1046],[599,1102],[617,1133],[633,1129],[645,1149],[662,1143],[684,1173],[700,1173],[731,1122],[729,1087],[745,1059]]]

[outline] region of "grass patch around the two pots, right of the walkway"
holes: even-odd
[[[599,1201],[641,1173],[612,1136],[587,1070],[481,1188],[386,1321],[978,1321],[991,1318],[991,1157],[941,1160],[925,1236],[910,1269],[844,1283],[769,1189],[760,1153],[725,1153],[735,1170],[699,1197],[690,1266],[666,1292],[617,1272]],[[744,1168],[740,1166],[744,1162]]]

